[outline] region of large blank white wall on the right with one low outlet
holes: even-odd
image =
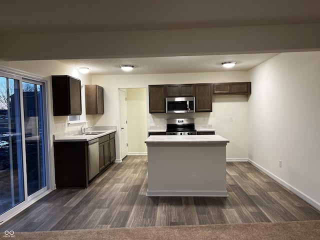
[[[320,52],[280,53],[248,72],[248,152],[254,164],[320,209],[319,66]]]

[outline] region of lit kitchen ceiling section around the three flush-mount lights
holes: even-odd
[[[205,55],[205,56],[168,56],[135,57],[107,59],[65,59],[59,60],[74,68],[85,66],[90,74],[156,74],[211,71],[246,71],[275,56],[277,53]],[[232,69],[222,67],[221,62],[236,61]],[[125,72],[119,65],[130,64],[133,69]]]

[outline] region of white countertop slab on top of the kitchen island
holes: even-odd
[[[150,135],[145,141],[147,146],[151,145],[211,145],[225,146],[228,139],[220,135]]]

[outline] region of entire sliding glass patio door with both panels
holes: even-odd
[[[0,73],[0,215],[47,189],[44,87]]]

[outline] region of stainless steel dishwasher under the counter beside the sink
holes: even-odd
[[[88,141],[89,180],[99,173],[99,138]]]

